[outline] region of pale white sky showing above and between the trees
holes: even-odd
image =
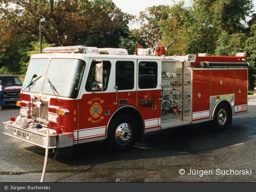
[[[173,5],[173,0],[112,0],[115,5],[121,9],[122,12],[131,15],[139,16],[140,11],[145,11],[147,7],[158,6],[158,5]],[[180,2],[180,0],[174,0]],[[254,6],[256,6],[256,0],[253,0]],[[185,0],[185,5],[190,5],[191,0]],[[256,8],[254,7],[256,10]],[[256,12],[256,11],[255,11]],[[130,28],[138,28],[136,24],[130,26]]]

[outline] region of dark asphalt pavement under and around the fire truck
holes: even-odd
[[[121,153],[103,142],[60,148],[49,151],[45,174],[44,149],[0,134],[0,182],[255,182],[256,96],[248,99],[251,112],[224,130],[200,123],[149,132]],[[4,106],[0,121],[18,114]]]

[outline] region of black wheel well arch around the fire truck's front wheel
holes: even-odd
[[[143,138],[143,134],[144,134],[144,121],[143,121],[143,117],[141,115],[141,113],[134,107],[132,106],[124,106],[122,108],[119,108],[110,118],[108,125],[107,125],[107,129],[106,129],[106,138],[108,137],[108,126],[111,125],[111,123],[114,121],[114,119],[117,116],[120,115],[124,115],[127,114],[129,116],[131,116],[134,121],[136,121],[136,125],[137,125],[137,137],[136,137],[136,141],[139,142],[142,140]]]

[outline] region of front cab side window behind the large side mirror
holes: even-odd
[[[102,80],[99,81],[98,77],[96,77],[97,64],[102,64]],[[89,75],[85,84],[86,91],[106,91],[108,87],[108,79],[111,70],[111,63],[109,61],[101,61],[101,60],[93,60],[91,62],[91,67],[89,71]],[[103,87],[102,87],[103,86]]]

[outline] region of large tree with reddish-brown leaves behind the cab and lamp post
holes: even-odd
[[[41,25],[46,43],[96,47],[118,47],[120,37],[128,37],[133,18],[112,0],[0,0],[0,67],[19,70],[14,64],[26,53],[17,49],[33,49],[43,17],[50,19]]]

